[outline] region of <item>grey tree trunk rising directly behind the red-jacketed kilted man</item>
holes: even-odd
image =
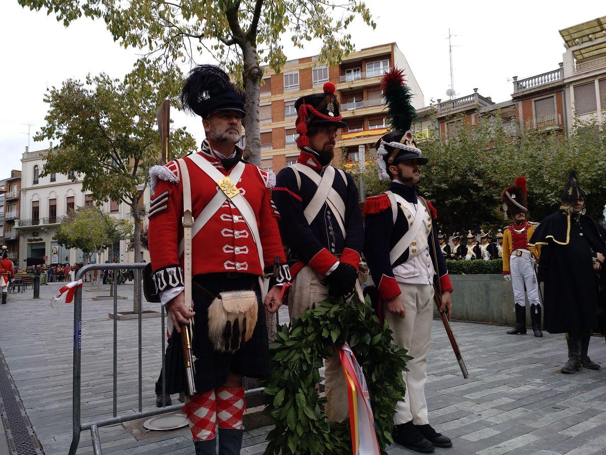
[[[246,41],[241,45],[242,81],[246,92],[246,116],[244,129],[246,131],[246,159],[256,166],[261,166],[261,128],[259,127],[259,99],[261,96],[261,76],[263,70],[259,67],[259,56],[255,45]]]

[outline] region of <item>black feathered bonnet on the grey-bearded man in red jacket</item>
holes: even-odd
[[[216,65],[198,65],[189,72],[181,90],[181,104],[202,118],[218,110],[236,110],[246,115],[245,93]]]

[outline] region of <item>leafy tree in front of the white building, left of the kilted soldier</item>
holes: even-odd
[[[160,156],[156,107],[179,93],[181,78],[141,60],[124,80],[101,74],[84,83],[73,79],[48,90],[46,124],[36,140],[55,139],[41,175],[61,172],[83,177],[82,189],[98,203],[124,201],[135,218],[135,260],[141,257],[139,199],[148,184],[148,169]],[[195,149],[184,128],[171,131],[171,152],[181,156]]]

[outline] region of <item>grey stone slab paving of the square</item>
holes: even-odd
[[[62,286],[50,283],[34,300],[32,289],[10,294],[0,307],[0,349],[24,403],[45,454],[64,454],[72,442],[73,305],[50,298]],[[85,285],[85,288],[88,285]],[[132,309],[133,285],[119,286],[118,310]],[[112,416],[113,311],[111,300],[82,302],[83,422]],[[453,295],[456,315],[456,295]],[[143,309],[159,310],[143,302]],[[279,318],[287,322],[286,309]],[[453,322],[461,352],[470,372],[463,379],[439,321],[433,323],[428,359],[427,403],[430,423],[453,439],[453,447],[436,454],[606,454],[606,369],[564,375],[567,360],[563,335],[545,332],[507,335],[500,326]],[[155,409],[154,385],[161,365],[160,318],[142,320],[142,409]],[[136,320],[118,322],[117,409],[121,415],[139,408],[138,325]],[[606,366],[606,343],[593,337],[591,358]],[[173,396],[173,402],[176,402]],[[188,428],[149,434],[131,426],[100,428],[104,454],[188,454],[193,444]],[[261,454],[271,426],[245,434],[241,454]],[[5,431],[0,425],[0,455],[8,453]],[[78,454],[92,454],[90,434],[82,433]],[[397,444],[390,455],[413,454]]]

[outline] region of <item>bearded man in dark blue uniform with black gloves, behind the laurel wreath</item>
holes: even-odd
[[[293,166],[278,173],[273,189],[293,276],[288,294],[291,318],[329,295],[346,297],[354,291],[364,243],[355,181],[330,166],[337,130],[346,125],[339,114],[335,84],[324,84],[324,93],[299,98],[295,108],[301,154]],[[326,415],[342,422],[348,406],[339,356],[326,359],[325,366]]]

